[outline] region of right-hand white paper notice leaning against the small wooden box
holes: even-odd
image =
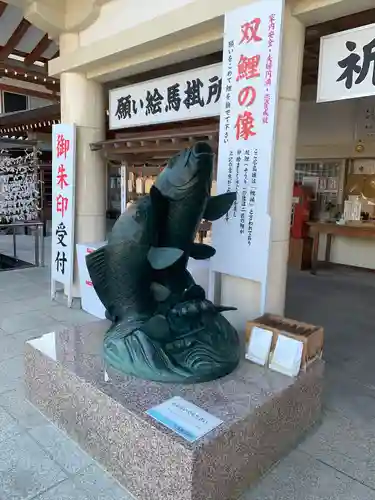
[[[279,335],[276,347],[271,355],[269,367],[271,370],[296,377],[301,368],[303,342]]]

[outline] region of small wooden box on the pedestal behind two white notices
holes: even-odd
[[[273,333],[271,352],[275,349],[279,334],[303,342],[301,368],[303,370],[323,354],[324,329],[321,326],[310,325],[282,316],[265,314],[254,321],[246,323],[246,342],[249,341],[254,326],[264,328]]]

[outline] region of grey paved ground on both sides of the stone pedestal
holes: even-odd
[[[19,237],[19,257],[31,249]],[[326,331],[323,424],[243,500],[375,500],[374,297],[375,273],[290,275],[287,315]],[[0,500],[129,500],[23,395],[24,342],[93,319],[50,301],[48,268],[0,273]]]

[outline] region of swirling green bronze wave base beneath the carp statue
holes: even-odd
[[[172,314],[167,319],[169,340],[155,338],[155,329],[150,338],[142,325],[128,335],[124,335],[123,324],[110,328],[104,339],[105,361],[126,375],[185,384],[215,380],[237,367],[238,334],[224,316],[207,311],[198,319]]]

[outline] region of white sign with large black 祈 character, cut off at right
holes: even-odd
[[[375,24],[320,40],[318,102],[375,95]]]

